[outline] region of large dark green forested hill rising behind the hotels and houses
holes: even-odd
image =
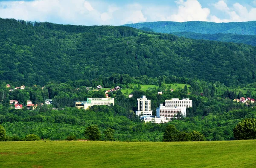
[[[123,26],[72,26],[0,19],[0,80],[47,81],[130,76],[256,81],[256,47],[191,40]]]

